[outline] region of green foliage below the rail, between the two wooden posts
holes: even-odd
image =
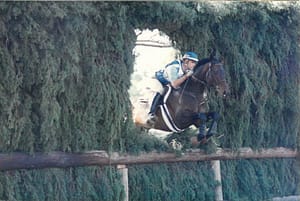
[[[129,173],[130,200],[214,200],[209,162],[144,165],[129,168]]]

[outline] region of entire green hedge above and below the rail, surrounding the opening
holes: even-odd
[[[224,57],[232,96],[210,94],[211,108],[222,114],[222,147],[299,148],[297,6],[1,2],[0,152],[165,150],[131,121],[136,28],[158,28],[182,51],[206,57],[216,47]],[[227,161],[222,169],[225,200],[300,193],[294,160]],[[214,200],[211,174],[208,163],[131,167],[130,195]],[[0,200],[124,196],[113,167],[2,172],[0,181]]]

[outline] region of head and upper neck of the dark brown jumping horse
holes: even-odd
[[[195,67],[193,79],[208,87],[215,87],[218,95],[226,97],[229,87],[225,79],[224,64],[216,58],[204,59]]]

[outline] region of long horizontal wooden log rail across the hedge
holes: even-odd
[[[35,169],[35,168],[66,168],[77,166],[107,166],[107,165],[138,165],[149,163],[173,163],[186,161],[262,159],[262,158],[295,158],[299,156],[297,150],[287,148],[273,148],[252,150],[241,148],[238,150],[220,149],[216,153],[205,154],[194,149],[178,156],[176,153],[142,153],[139,155],[108,154],[105,151],[90,151],[84,153],[24,153],[0,154],[0,170]]]

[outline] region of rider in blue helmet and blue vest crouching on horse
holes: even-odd
[[[161,83],[161,86],[170,84],[173,88],[178,88],[192,74],[193,69],[198,62],[198,55],[195,52],[186,52],[182,59],[175,60],[166,65],[165,69],[155,73],[156,79]],[[153,98],[150,112],[148,113],[148,124],[155,123],[155,111],[161,103],[163,97],[163,88],[157,89],[156,95]]]

